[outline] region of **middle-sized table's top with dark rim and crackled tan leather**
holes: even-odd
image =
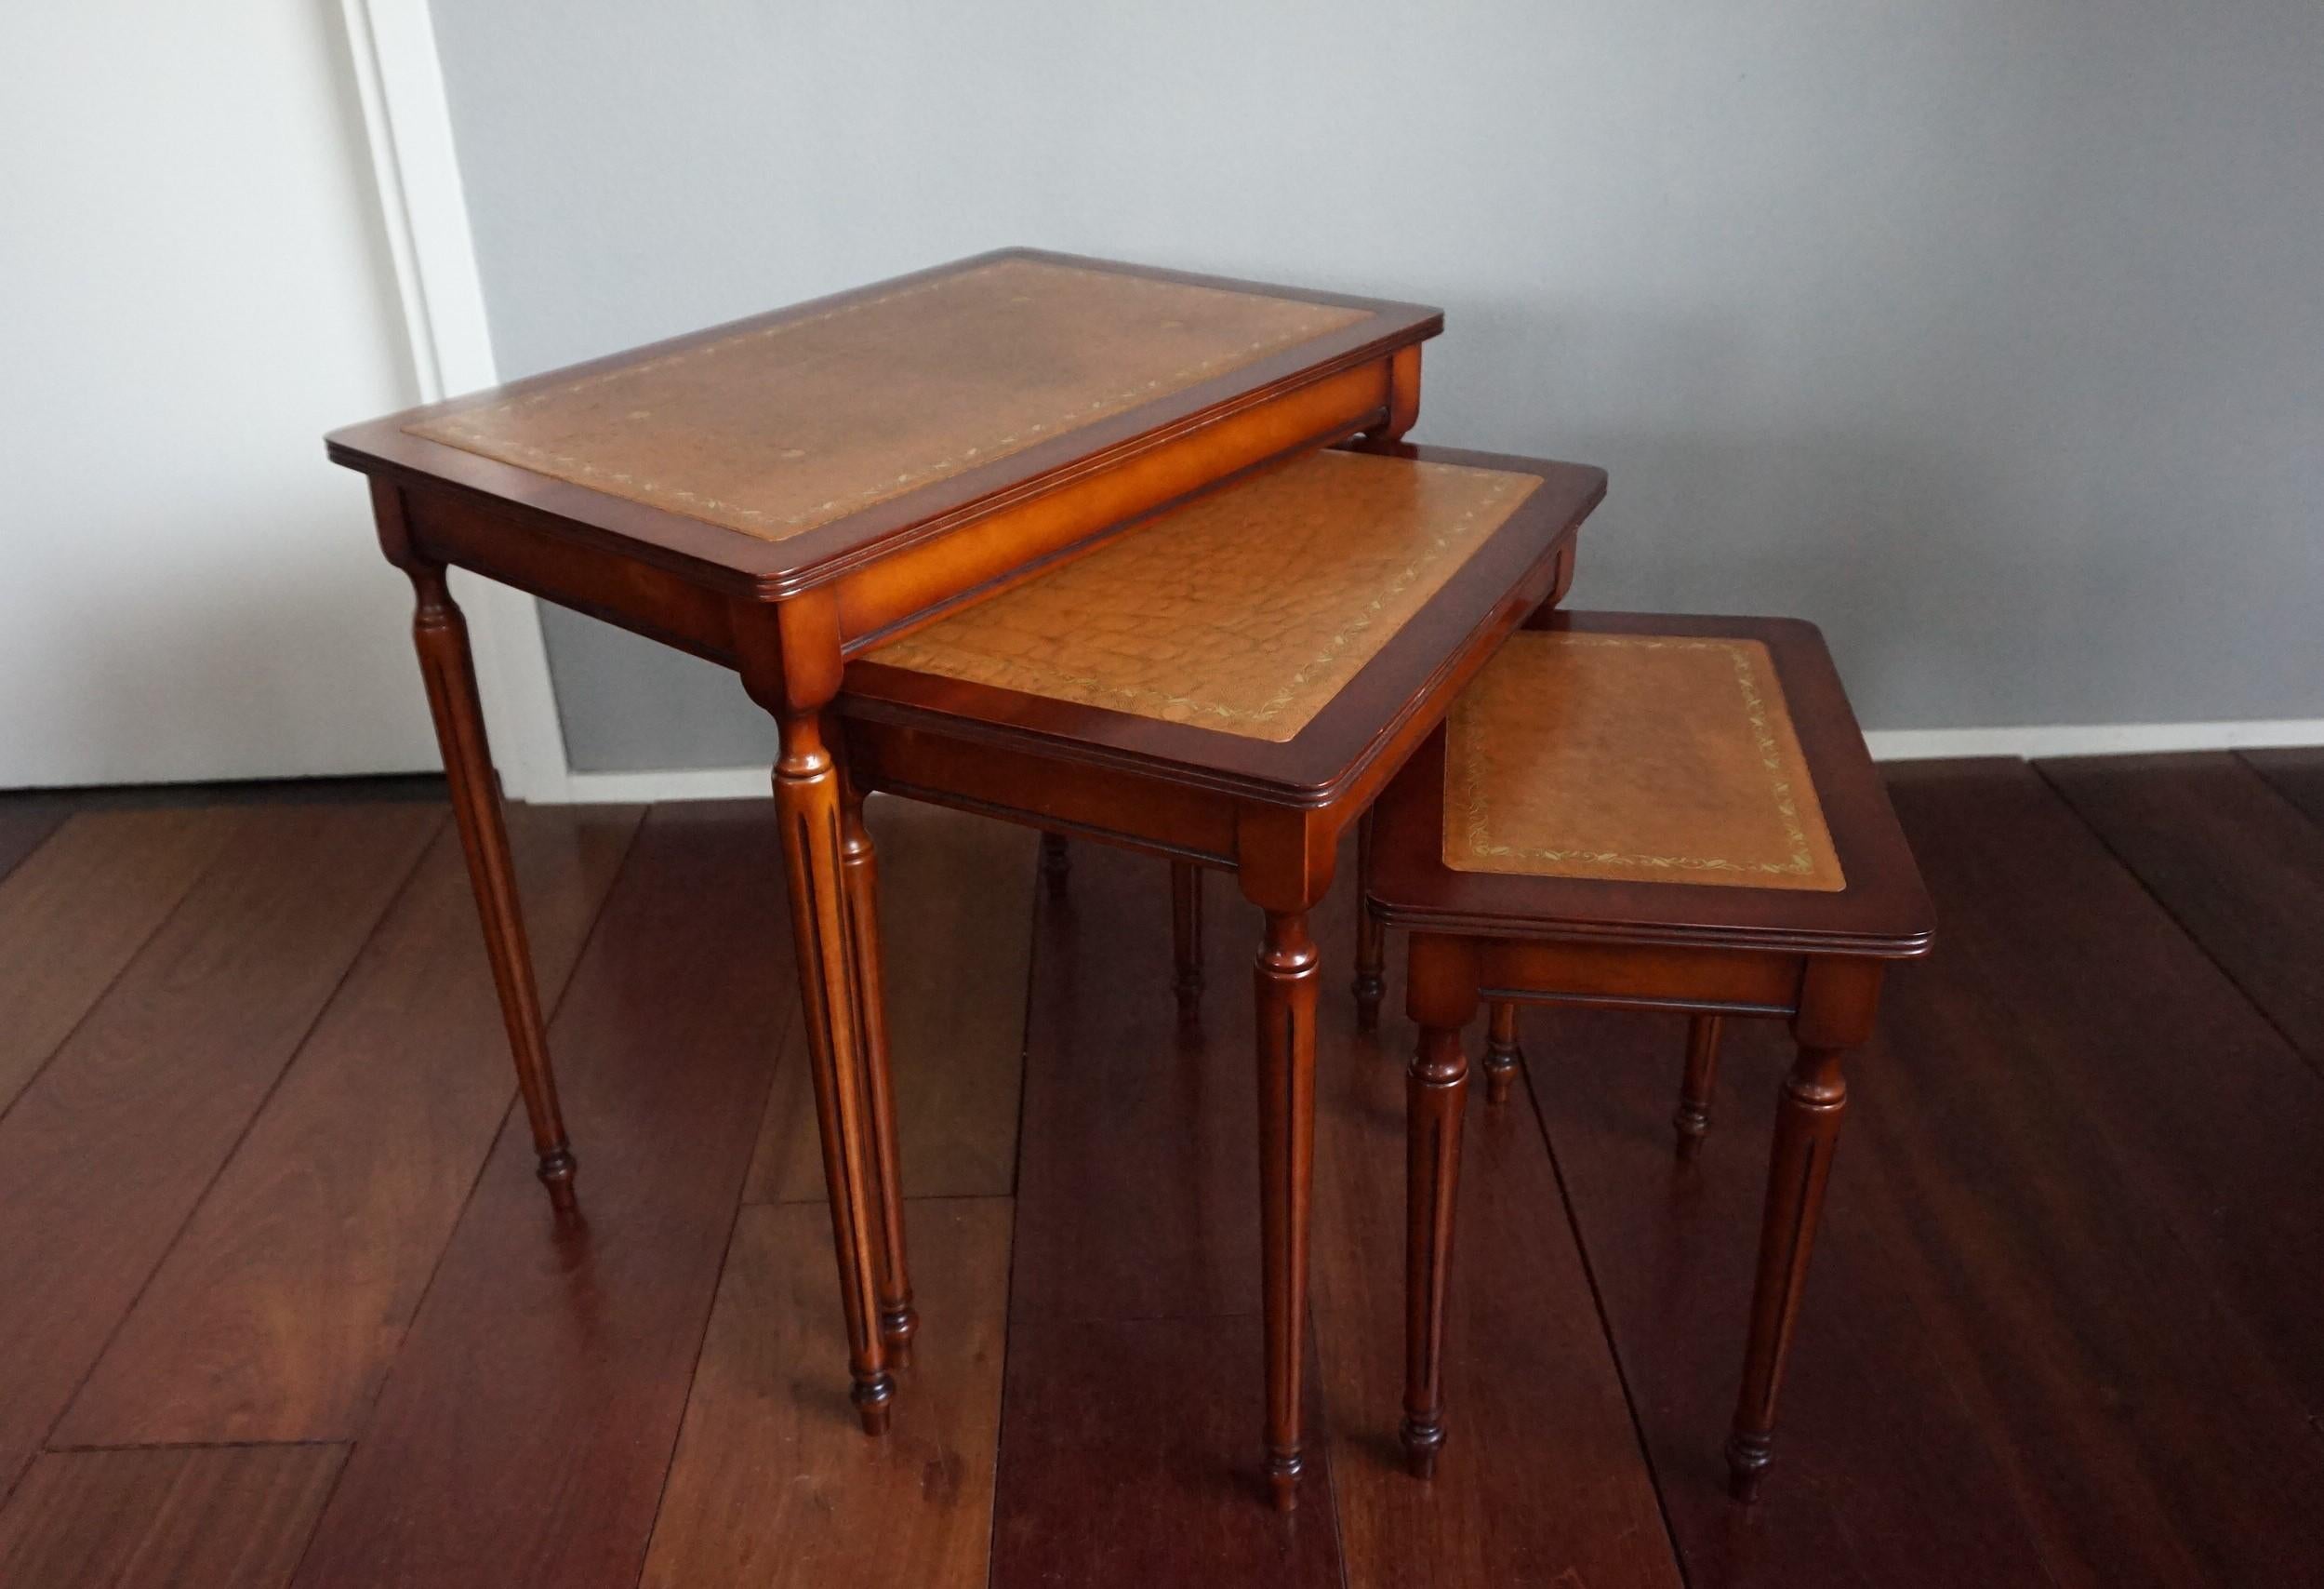
[[[1304,454],[865,654],[839,710],[1320,803],[1604,491],[1541,458]]]

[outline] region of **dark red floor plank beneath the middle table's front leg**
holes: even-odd
[[[1181,1033],[1169,868],[1071,856],[1034,924],[992,1584],[1339,1584],[1313,1349],[1299,1512],[1260,1475],[1257,917],[1206,921]]]

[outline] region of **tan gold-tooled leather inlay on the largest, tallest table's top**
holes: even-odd
[[[1002,258],[409,430],[788,540],[1367,314]]]

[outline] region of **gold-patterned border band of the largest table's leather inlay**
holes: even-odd
[[[1195,382],[1208,379],[1211,375],[1225,375],[1229,370],[1241,370],[1243,365],[1257,363],[1260,358],[1264,358],[1267,354],[1274,354],[1276,349],[1292,347],[1294,342],[1308,342],[1313,337],[1325,335],[1327,330],[1339,330],[1341,326],[1353,326],[1355,321],[1360,321],[1360,319],[1364,319],[1369,314],[1369,309],[1346,309],[1346,307],[1339,307],[1339,305],[1311,305],[1308,314],[1304,314],[1297,323],[1292,323],[1283,333],[1278,333],[1274,337],[1257,337],[1250,344],[1246,344],[1243,349],[1236,349],[1234,354],[1215,354],[1211,358],[1199,358],[1195,363],[1181,365],[1178,370],[1171,370],[1169,375],[1157,375],[1157,377],[1153,377],[1153,379],[1148,379],[1148,382],[1143,382],[1139,386],[1127,386],[1127,389],[1122,389],[1122,391],[1118,391],[1113,396],[1097,398],[1088,407],[1067,409],[1067,412],[1057,414],[1055,421],[1039,421],[1039,423],[1032,423],[1032,426],[1023,426],[1013,435],[995,435],[995,437],[990,437],[985,442],[978,442],[976,447],[962,447],[962,449],[957,449],[948,458],[937,458],[932,463],[923,463],[918,468],[902,470],[902,472],[895,475],[895,479],[883,479],[881,484],[867,486],[865,491],[858,491],[853,496],[830,498],[830,500],[825,500],[818,507],[809,507],[809,510],[795,512],[790,516],[776,516],[776,514],[772,514],[772,512],[767,512],[762,507],[744,507],[741,503],[725,503],[725,500],[713,498],[713,496],[702,496],[697,491],[688,491],[686,486],[679,486],[679,484],[672,484],[672,482],[639,479],[634,472],[600,468],[595,463],[590,463],[588,458],[576,458],[572,454],[553,451],[548,447],[535,447],[530,442],[518,442],[518,440],[511,440],[511,437],[493,435],[490,430],[481,430],[474,423],[474,421],[493,416],[493,414],[514,414],[514,412],[525,409],[525,407],[539,407],[541,402],[553,402],[555,398],[569,398],[572,393],[588,391],[590,386],[604,386],[604,384],[611,384],[611,382],[632,379],[637,375],[648,375],[653,370],[667,370],[667,368],[683,365],[683,363],[695,363],[695,361],[702,361],[702,358],[716,358],[716,356],[720,356],[720,354],[725,354],[730,349],[741,347],[744,342],[760,342],[760,340],[767,340],[767,337],[779,337],[779,335],[786,335],[786,333],[792,333],[792,330],[802,330],[806,326],[820,326],[823,321],[846,319],[851,314],[862,314],[865,309],[876,309],[881,305],[897,302],[899,298],[916,298],[920,293],[934,293],[934,291],[941,291],[946,286],[957,286],[962,282],[974,282],[976,277],[992,275],[992,272],[999,272],[999,270],[1062,272],[1062,275],[1078,275],[1078,277],[1104,279],[1104,282],[1116,284],[1116,286],[1136,286],[1136,288],[1150,288],[1150,291],[1218,293],[1218,295],[1227,295],[1227,298],[1262,298],[1267,302],[1285,302],[1285,305],[1301,302],[1297,298],[1269,298],[1267,293],[1239,293],[1234,288],[1202,286],[1202,284],[1195,284],[1195,282],[1169,282],[1169,279],[1162,279],[1162,277],[1141,277],[1141,275],[1129,275],[1129,272],[1118,272],[1118,270],[1090,270],[1088,265],[1062,265],[1062,263],[1055,263],[1055,261],[1002,258],[1002,261],[992,261],[992,263],[985,263],[985,265],[976,265],[974,270],[955,270],[955,272],[946,272],[941,277],[934,277],[930,282],[918,282],[913,286],[899,286],[899,288],[881,293],[876,298],[862,298],[858,302],[844,302],[844,305],[834,305],[830,309],[818,309],[816,314],[802,314],[802,316],[795,316],[795,319],[781,319],[781,321],[776,321],[772,326],[760,326],[758,330],[739,330],[739,333],[734,333],[730,337],[720,337],[716,342],[704,342],[702,347],[690,347],[690,349],[681,349],[676,354],[665,354],[662,358],[648,358],[644,363],[621,365],[616,370],[602,370],[597,375],[586,375],[586,377],[581,377],[576,382],[565,382],[562,386],[548,386],[544,391],[525,393],[523,398],[509,398],[504,402],[493,402],[493,405],[486,405],[486,407],[472,407],[472,409],[460,409],[456,414],[444,414],[439,419],[428,419],[428,421],[421,421],[421,423],[414,423],[414,426],[404,426],[404,430],[411,433],[411,435],[432,440],[432,442],[449,442],[449,444],[453,444],[453,447],[458,447],[462,451],[474,451],[474,454],[481,454],[486,458],[497,458],[502,463],[555,465],[553,470],[544,468],[541,470],[544,475],[555,475],[555,477],[565,477],[565,479],[579,479],[583,484],[609,482],[614,486],[621,486],[621,491],[616,496],[644,498],[648,503],[658,503],[662,507],[669,507],[672,512],[681,512],[681,514],[688,514],[688,516],[695,516],[695,519],[706,519],[709,523],[718,523],[723,528],[744,530],[746,535],[755,535],[760,540],[790,540],[792,535],[804,535],[806,530],[820,528],[825,523],[832,523],[834,519],[844,519],[844,516],[848,516],[853,512],[860,512],[865,507],[871,507],[876,503],[885,503],[890,498],[904,496],[906,491],[916,491],[916,489],[930,486],[930,484],[934,484],[939,479],[951,479],[953,475],[962,475],[962,472],[967,472],[971,468],[978,468],[983,463],[992,463],[997,458],[1006,458],[1011,454],[1025,451],[1027,447],[1046,442],[1053,435],[1064,435],[1067,430],[1078,430],[1081,426],[1095,423],[1099,419],[1109,419],[1111,414],[1120,414],[1122,409],[1127,409],[1127,407],[1132,407],[1136,402],[1146,402],[1150,398],[1157,398],[1157,396],[1164,396],[1164,393],[1171,393],[1171,391],[1183,391],[1185,386],[1192,386]],[[751,526],[746,528],[746,526],[732,523],[732,519],[748,519]]]

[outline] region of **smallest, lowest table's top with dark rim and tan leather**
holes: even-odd
[[[1446,933],[1899,959],[1934,935],[1799,619],[1557,612],[1513,635],[1380,796],[1371,863],[1383,921]]]

